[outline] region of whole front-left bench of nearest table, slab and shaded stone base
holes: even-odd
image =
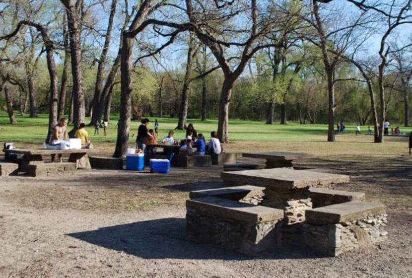
[[[215,197],[186,201],[186,232],[190,240],[218,244],[255,255],[276,247],[281,209]]]

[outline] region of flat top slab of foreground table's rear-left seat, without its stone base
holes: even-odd
[[[248,195],[262,195],[264,187],[253,186],[253,185],[243,185],[243,186],[232,186],[216,189],[206,189],[206,190],[196,190],[191,191],[189,194],[190,199],[198,199],[204,197],[217,197],[233,201],[238,201]]]

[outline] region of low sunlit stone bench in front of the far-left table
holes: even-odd
[[[27,175],[31,177],[71,175],[75,170],[74,162],[36,163],[26,166]]]

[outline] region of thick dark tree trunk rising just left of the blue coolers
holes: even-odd
[[[113,157],[123,157],[126,155],[129,144],[130,118],[132,114],[132,51],[134,37],[123,35],[123,46],[120,70],[121,76],[121,96],[120,96],[120,117],[117,130],[116,148]]]

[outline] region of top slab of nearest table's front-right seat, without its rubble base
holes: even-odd
[[[383,204],[371,202],[347,202],[317,209],[306,210],[306,222],[315,225],[336,224],[385,213]]]

